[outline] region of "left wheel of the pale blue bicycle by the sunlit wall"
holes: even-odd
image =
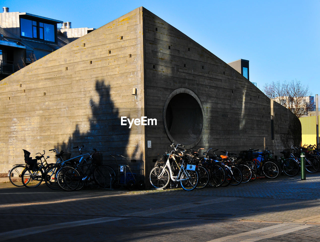
[[[58,185],[65,191],[76,190],[80,180],[80,174],[75,168],[65,166],[57,172]]]

